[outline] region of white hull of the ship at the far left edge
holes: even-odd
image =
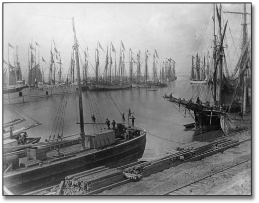
[[[3,104],[15,104],[29,102],[29,88],[17,87],[3,89]]]

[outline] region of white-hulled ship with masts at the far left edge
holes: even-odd
[[[18,47],[16,46],[16,60],[14,59],[14,66],[9,60],[9,48],[13,47],[8,44],[8,65],[7,70],[3,73],[3,104],[16,104],[29,102],[29,88],[25,85],[22,78],[20,63],[18,62]]]

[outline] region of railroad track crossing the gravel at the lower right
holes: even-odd
[[[182,186],[180,188],[174,189],[170,192],[165,193],[164,195],[186,195],[190,191],[194,191],[204,185],[207,185],[210,182],[223,178],[226,174],[229,174],[229,175],[235,174],[238,170],[242,168],[242,165],[245,165],[247,162],[251,163],[251,159],[248,159],[246,161],[243,161],[241,163],[235,164],[231,167],[218,171],[214,174],[211,174],[202,179],[199,179],[198,181],[195,181],[185,186]]]

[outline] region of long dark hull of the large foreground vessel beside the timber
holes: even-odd
[[[53,162],[35,169],[6,175],[4,186],[16,194],[50,186],[64,180],[68,175],[98,166],[120,167],[141,158],[146,144],[146,133],[127,142],[92,153]]]

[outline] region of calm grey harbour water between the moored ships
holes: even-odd
[[[135,125],[146,129],[147,142],[143,156],[160,156],[173,151],[176,146],[189,143],[191,141],[201,141],[212,139],[223,135],[220,131],[211,131],[195,135],[195,131],[187,130],[183,124],[194,122],[191,116],[173,106],[170,102],[163,99],[164,94],[174,93],[174,96],[184,97],[186,100],[208,92],[207,85],[191,85],[188,83],[189,75],[178,74],[177,80],[172,81],[166,88],[154,89],[129,89],[118,91],[90,91],[83,92],[84,122],[92,123],[91,102],[96,103],[95,116],[98,122],[105,123],[108,118],[111,122],[113,119],[119,123],[122,122],[121,113],[126,114],[128,122],[128,109],[131,109],[135,119]],[[191,92],[190,92],[191,90]],[[203,94],[204,95],[204,94]],[[206,94],[205,94],[206,95]],[[61,101],[61,95],[49,98],[40,98],[27,103],[15,104],[16,107],[30,115],[32,118],[42,123],[41,125],[31,128],[27,131],[30,137],[41,137],[41,141],[48,139],[56,114]],[[89,98],[91,98],[89,100]],[[201,100],[204,98],[201,98]],[[15,113],[18,113],[16,110]],[[3,106],[3,122],[11,118],[19,117],[10,111],[10,106]],[[20,113],[20,115],[22,115]],[[26,118],[26,117],[25,117]],[[34,121],[26,118],[25,122],[15,125],[15,129],[22,126],[29,126]],[[67,96],[67,104],[64,116],[63,136],[77,134],[80,132],[79,112],[78,112],[78,95],[71,93]],[[99,129],[107,125],[96,125]],[[85,132],[92,133],[96,130],[93,124],[85,124]]]

